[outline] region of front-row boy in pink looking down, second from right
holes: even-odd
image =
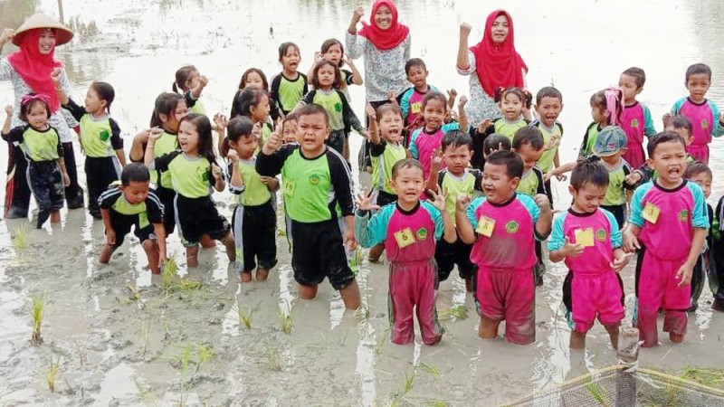
[[[608,331],[611,345],[618,347],[624,319],[624,282],[618,273],[630,256],[621,249],[621,231],[614,215],[600,207],[609,179],[597,156],[579,162],[568,187],[573,204],[553,221],[548,239],[548,258],[554,263],[566,260],[568,268],[563,303],[571,328],[571,349],[586,347],[586,333],[596,317]]]

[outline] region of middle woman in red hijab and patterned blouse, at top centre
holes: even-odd
[[[376,109],[389,102],[388,92],[399,95],[409,86],[405,62],[410,59],[410,29],[397,22],[397,7],[391,0],[376,0],[369,18],[371,24],[363,22],[357,33],[362,14],[362,7],[357,7],[347,31],[346,46],[353,60],[365,57],[365,101]],[[366,161],[367,155],[361,155],[360,166]]]

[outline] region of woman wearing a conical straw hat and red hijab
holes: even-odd
[[[73,33],[68,27],[41,13],[28,17],[17,30],[5,28],[0,33],[0,52],[3,45],[11,40],[20,47],[19,51],[0,60],[0,80],[13,82],[14,111],[20,111],[20,99],[28,93],[42,93],[51,100],[52,116],[48,123],[57,129],[61,136],[65,164],[71,177],[71,185],[65,188],[65,199],[70,209],[83,206],[83,191],[78,185],[71,127],[62,114],[51,72],[54,68],[62,68],[62,62],[55,59],[55,47],[68,43],[72,37]],[[61,83],[63,90],[70,94],[71,83],[65,71],[62,72]],[[22,125],[24,122],[14,116],[12,126]],[[5,218],[27,217],[30,189],[24,176],[26,166],[23,153],[11,145],[5,185]]]

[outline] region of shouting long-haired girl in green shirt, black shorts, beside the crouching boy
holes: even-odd
[[[188,267],[198,266],[198,244],[205,234],[222,241],[229,260],[236,260],[231,225],[211,199],[212,187],[224,191],[225,185],[224,171],[216,165],[211,122],[203,115],[189,113],[178,124],[180,150],[155,158],[154,147],[164,136],[159,128],[150,132],[145,162],[151,171],[167,173],[176,192],[173,205]]]

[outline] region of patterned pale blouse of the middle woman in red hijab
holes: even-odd
[[[350,58],[365,57],[366,101],[387,100],[387,92],[399,95],[409,86],[405,74],[405,62],[410,59],[410,43],[407,38],[391,50],[380,50],[367,42],[362,35],[347,33],[346,48]]]

